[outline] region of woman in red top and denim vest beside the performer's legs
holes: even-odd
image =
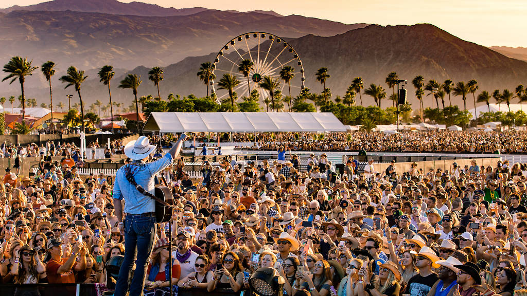
[[[155,291],[168,291],[170,292],[170,274],[169,265],[172,264],[172,284],[177,284],[181,275],[181,267],[179,261],[172,258],[172,262],[169,263],[170,250],[168,239],[163,238],[158,240],[154,245],[152,251],[152,259],[148,265],[147,280],[144,281],[144,295],[154,295]]]

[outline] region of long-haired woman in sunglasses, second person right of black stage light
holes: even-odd
[[[318,260],[315,263],[313,274],[308,271],[297,271],[295,274],[297,284],[293,287],[293,296],[299,289],[306,289],[313,296],[327,296],[330,294],[331,272],[329,263],[326,260]]]

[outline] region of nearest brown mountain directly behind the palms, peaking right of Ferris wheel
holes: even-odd
[[[487,47],[466,42],[440,28],[430,24],[417,24],[413,26],[377,26],[370,25],[365,28],[354,29],[344,34],[331,37],[307,35],[296,39],[289,39],[298,52],[305,67],[306,86],[313,92],[320,93],[322,87],[315,79],[315,72],[320,67],[327,67],[331,77],[326,86],[331,88],[333,98],[343,96],[346,88],[355,76],[362,76],[364,85],[375,83],[382,85],[388,95],[391,90],[385,84],[386,75],[396,71],[399,78],[408,81],[408,99],[417,108],[414,96],[412,79],[416,75],[423,75],[425,82],[436,79],[443,82],[450,78],[454,82],[475,79],[479,82],[479,91],[493,91],[499,88],[514,90],[515,86],[527,81],[527,63],[506,57]],[[277,50],[279,48],[276,48]],[[271,54],[276,54],[274,50]],[[170,92],[180,95],[190,93],[198,96],[206,94],[206,88],[198,80],[196,73],[201,63],[213,61],[216,52],[209,55],[187,57],[182,61],[164,67],[165,77],[160,83],[162,97],[167,97]],[[137,67],[132,73],[140,74],[143,83],[139,87],[139,95],[154,95],[156,93],[153,83],[148,81],[148,68]],[[222,73],[217,73],[221,76]],[[38,75],[39,77],[42,75]],[[115,75],[112,81],[112,97],[119,102],[126,102],[128,106],[132,98],[131,91],[118,90],[116,86],[123,78],[124,73]],[[95,77],[83,84],[82,89],[87,101],[99,99],[108,101],[107,89]],[[56,78],[58,79],[58,78]],[[90,80],[91,79],[91,80]],[[33,77],[27,78],[27,87],[35,83]],[[54,94],[58,98],[65,97],[63,86],[58,82]],[[18,87],[14,83],[15,87]],[[0,86],[4,86],[0,84]],[[60,89],[59,89],[60,88]],[[18,88],[15,88],[17,91]],[[27,91],[37,100],[46,100],[45,88],[33,88]],[[225,93],[218,90],[218,93]],[[1,95],[5,95],[0,93]],[[296,95],[294,93],[294,95]],[[373,104],[371,97],[362,95],[365,105]],[[445,98],[447,102],[448,98]],[[515,101],[514,101],[515,102]],[[357,96],[357,103],[358,96]],[[452,95],[452,103],[463,106],[461,97]],[[391,101],[384,100],[383,107]],[[431,96],[425,96],[425,106],[432,105]],[[472,96],[469,95],[467,107],[472,107]]]

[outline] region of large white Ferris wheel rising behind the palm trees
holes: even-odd
[[[249,60],[252,65],[247,76],[239,71],[244,60]],[[269,97],[268,91],[260,86],[265,76],[280,83],[283,96],[295,97],[304,88],[304,66],[298,53],[279,36],[265,32],[250,32],[232,38],[216,55],[212,69],[216,78],[210,82],[211,92],[216,93],[218,101],[229,96],[228,91],[219,85],[224,74],[233,75],[239,81],[234,88],[239,99],[249,96],[249,89],[257,90],[260,100]],[[282,69],[292,76],[288,83],[280,75]]]

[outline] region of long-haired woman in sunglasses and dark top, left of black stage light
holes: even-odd
[[[233,252],[223,255],[223,264],[214,271],[214,278],[209,282],[207,290],[209,292],[216,289],[227,289],[238,292],[243,285],[243,273],[240,272],[240,259]]]

